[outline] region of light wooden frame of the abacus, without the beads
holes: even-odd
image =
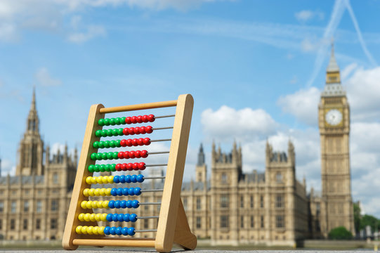
[[[114,108],[104,108],[102,104],[91,106],[77,176],[72,190],[69,212],[67,213],[65,231],[63,233],[62,245],[65,249],[77,249],[79,245],[89,245],[100,247],[155,247],[157,252],[170,252],[173,243],[180,245],[183,249],[195,249],[197,246],[197,238],[190,231],[180,195],[186,151],[188,149],[193,104],[194,100],[192,96],[185,94],[178,96],[178,100],[165,102],[126,105]],[[89,165],[94,164],[94,161],[90,158],[91,153],[97,151],[91,144],[94,141],[100,140],[100,137],[95,136],[95,132],[102,128],[102,126],[98,126],[98,120],[104,118],[105,113],[173,106],[176,106],[176,116],[173,124],[173,134],[166,168],[164,190],[162,192],[156,237],[107,238],[102,235],[78,235],[75,232],[75,228],[81,223],[78,219],[78,215],[81,213],[80,204],[84,200],[89,200],[89,197],[85,197],[83,194],[84,188],[88,187],[88,185],[86,185],[86,177],[93,175],[87,168]],[[92,212],[92,209],[89,209],[89,212]],[[90,224],[89,226],[97,226],[95,221],[87,224]]]

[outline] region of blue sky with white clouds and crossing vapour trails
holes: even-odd
[[[14,173],[36,86],[53,150],[80,148],[89,108],[173,100],[195,108],[185,180],[199,143],[242,145],[263,171],[266,140],[296,149],[298,179],[320,190],[317,104],[330,43],[351,110],[353,198],[380,216],[380,1],[11,1],[0,4],[0,156]]]

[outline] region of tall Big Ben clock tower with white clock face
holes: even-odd
[[[321,232],[327,238],[333,228],[344,226],[355,234],[350,178],[350,108],[341,86],[339,67],[332,54],[326,86],[318,107],[322,167]]]

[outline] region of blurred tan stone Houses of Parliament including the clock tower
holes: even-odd
[[[313,189],[307,193],[306,180],[296,179],[296,153],[291,141],[287,153],[273,151],[267,142],[265,171],[251,173],[243,172],[242,149],[236,143],[230,153],[213,144],[208,171],[201,145],[195,181],[183,182],[181,192],[190,228],[198,238],[208,238],[214,245],[294,245],[306,238],[327,238],[329,231],[338,226],[354,233],[350,110],[333,49],[325,89],[320,104],[315,106],[320,129],[321,193]],[[39,134],[39,124],[33,93],[15,176],[0,176],[0,240],[62,238],[77,150],[69,155],[65,146],[63,153],[58,150],[50,154]],[[147,193],[144,198],[154,202],[160,193]],[[159,207],[136,209],[138,216],[157,212]],[[145,220],[136,224],[136,229],[154,226],[155,222]]]

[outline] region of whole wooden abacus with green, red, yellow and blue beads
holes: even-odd
[[[178,100],[139,105],[126,105],[115,108],[104,108],[102,104],[92,105],[86,132],[81,149],[77,176],[72,190],[72,199],[62,245],[65,249],[77,249],[79,245],[87,246],[125,246],[154,247],[157,252],[170,252],[173,243],[183,249],[195,249],[197,238],[190,231],[188,219],[181,202],[181,185],[185,156],[188,147],[193,99],[190,94],[178,96]],[[129,117],[105,118],[106,113],[133,112],[137,110],[153,110],[156,108],[176,107],[175,115],[138,115]],[[136,126],[115,129],[103,129],[103,126],[120,124],[143,124],[159,121],[163,117],[174,117],[173,126]],[[122,140],[100,141],[107,136],[133,136],[152,134],[161,129],[172,129],[171,139],[154,140],[145,138],[129,138]],[[130,150],[150,145],[154,141],[171,141],[169,151],[149,152],[148,150]],[[113,152],[98,152],[98,149],[113,148]],[[124,149],[123,149],[124,148]],[[148,147],[147,147],[148,149]],[[117,151],[115,151],[117,150]],[[97,160],[133,160],[143,159],[150,155],[169,153],[167,164],[145,164],[133,162],[117,164],[96,164]],[[166,165],[165,176],[144,176],[143,174],[110,175],[107,171],[140,172],[148,167]],[[108,176],[94,176],[94,172],[105,172]],[[101,175],[102,173],[100,173]],[[143,187],[121,187],[129,183],[143,183],[146,179],[164,179],[163,189],[144,190]],[[114,186],[103,188],[103,186]],[[129,186],[129,185],[127,185]],[[143,186],[142,184],[140,186]],[[162,191],[161,202],[139,202],[138,200],[105,200],[107,197],[144,195],[145,191]],[[91,200],[90,200],[91,197]],[[92,200],[98,199],[98,200]],[[101,199],[101,200],[100,200]],[[138,217],[136,214],[112,213],[119,209],[134,209],[142,205],[159,205],[159,216]],[[94,210],[97,212],[93,212]],[[100,211],[100,212],[99,212]],[[114,222],[122,224],[138,222],[140,219],[158,219],[157,229],[136,230],[132,226],[99,226],[98,222]],[[135,237],[141,233],[155,233],[154,238]]]

